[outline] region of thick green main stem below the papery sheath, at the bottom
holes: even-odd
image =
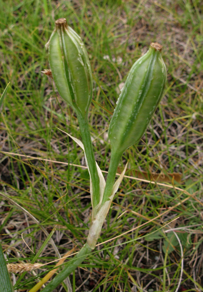
[[[47,284],[45,288],[41,290],[41,292],[50,292],[53,291],[61,282],[66,279],[72,273],[78,265],[80,265],[88,256],[89,253],[91,253],[92,249],[89,247],[89,245],[86,243],[79,253],[77,253],[72,260],[69,260],[66,267],[63,268],[59,274],[57,274],[52,281]]]

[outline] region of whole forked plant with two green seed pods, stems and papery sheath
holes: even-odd
[[[161,57],[162,46],[152,43],[149,51],[130,69],[110,121],[108,136],[112,152],[105,182],[94,158],[87,118],[93,85],[86,48],[80,36],[67,25],[65,18],[55,22],[55,29],[46,46],[49,48],[49,63],[57,90],[77,115],[82,142],[68,135],[85,152],[93,211],[87,242],[66,267],[42,289],[43,292],[56,288],[95,248],[114,194],[126,170],[125,168],[115,182],[121,156],[128,147],[142,138],[163,96],[166,81],[166,68]]]

